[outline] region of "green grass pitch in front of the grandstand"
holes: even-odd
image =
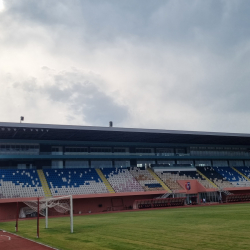
[[[250,204],[75,216],[73,234],[68,217],[40,222],[38,241],[65,250],[250,249]],[[36,240],[36,221],[20,221],[18,234]]]

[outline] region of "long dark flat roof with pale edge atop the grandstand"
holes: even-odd
[[[0,140],[249,145],[250,134],[0,122]]]

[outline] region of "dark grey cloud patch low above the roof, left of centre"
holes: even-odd
[[[93,73],[72,70],[49,74],[47,84],[39,85],[35,78],[31,78],[15,83],[14,87],[25,92],[40,93],[41,98],[47,98],[51,105],[54,102],[66,104],[71,111],[71,114],[66,114],[70,120],[73,116],[80,116],[89,124],[105,126],[109,120],[119,125],[127,119],[128,108],[107,95],[102,80]]]

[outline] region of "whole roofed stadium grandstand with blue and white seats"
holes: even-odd
[[[249,194],[249,134],[0,123],[0,220],[37,197],[83,214]]]

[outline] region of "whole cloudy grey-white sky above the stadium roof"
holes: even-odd
[[[0,121],[250,133],[248,0],[0,0]]]

